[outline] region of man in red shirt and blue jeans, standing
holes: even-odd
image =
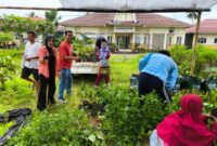
[[[66,94],[72,93],[73,77],[71,74],[71,67],[73,59],[77,61],[78,56],[73,56],[73,31],[65,31],[65,40],[59,47],[59,66],[60,66],[60,83],[59,83],[59,102],[65,103],[63,93],[66,90]]]

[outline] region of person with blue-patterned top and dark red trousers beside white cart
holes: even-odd
[[[110,85],[110,57],[111,51],[105,39],[102,39],[101,49],[97,52],[97,57],[100,61],[100,69],[95,79],[94,87],[99,87],[102,76],[105,78],[105,83]]]

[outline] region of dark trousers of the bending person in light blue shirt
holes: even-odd
[[[163,101],[166,101],[167,103],[171,102],[170,94],[161,79],[146,72],[140,72],[139,96],[149,94],[153,91],[155,91]]]

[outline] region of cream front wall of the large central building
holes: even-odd
[[[115,37],[115,32],[120,32],[120,30],[116,29],[116,27],[110,26],[94,26],[94,27],[69,27],[66,29],[71,29],[74,31],[75,36],[79,35],[79,34],[86,34],[88,37],[90,38],[97,38],[98,36],[104,36],[105,38],[107,38],[107,36],[111,36],[113,39],[112,41],[115,42],[116,37]],[[144,43],[144,36],[148,37],[148,44],[150,45],[150,49],[152,48],[152,37],[153,34],[163,34],[165,35],[165,39],[164,39],[164,47],[163,49],[167,48],[167,36],[171,37],[171,44],[176,44],[177,43],[177,37],[181,37],[181,44],[184,44],[184,39],[186,39],[186,28],[174,28],[174,32],[169,34],[169,29],[170,28],[159,28],[159,27],[132,27],[132,29],[129,29],[129,31],[127,32],[131,32],[132,34],[132,38],[131,38],[131,43],[135,43],[136,41],[136,37],[139,36],[140,37],[140,43],[143,44]],[[124,34],[125,31],[122,31],[122,34]]]

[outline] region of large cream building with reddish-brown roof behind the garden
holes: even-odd
[[[76,36],[95,39],[104,36],[108,42],[124,49],[167,49],[184,44],[186,29],[191,25],[154,13],[90,13],[60,23]],[[124,42],[124,43],[123,43]]]

